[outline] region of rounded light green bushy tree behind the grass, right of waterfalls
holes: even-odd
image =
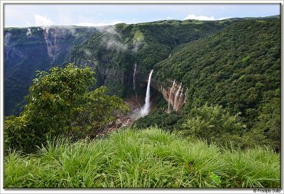
[[[239,114],[231,115],[222,106],[204,104],[195,107],[182,124],[183,134],[206,139],[208,143],[215,141],[226,144],[234,141],[241,143],[241,134],[246,131],[246,126],[240,122]]]

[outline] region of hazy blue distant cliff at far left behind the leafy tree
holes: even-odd
[[[38,70],[62,65],[73,45],[99,33],[96,28],[52,26],[4,29],[4,114],[19,114]]]

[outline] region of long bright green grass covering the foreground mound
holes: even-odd
[[[156,128],[50,143],[5,158],[4,188],[280,188],[280,156],[219,149]]]

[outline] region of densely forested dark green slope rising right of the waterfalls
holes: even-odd
[[[184,117],[206,103],[222,105],[230,115],[240,113],[247,127],[239,135],[244,132],[247,142],[279,150],[280,50],[280,20],[234,22],[176,47],[154,66],[153,79],[175,79],[188,88]]]

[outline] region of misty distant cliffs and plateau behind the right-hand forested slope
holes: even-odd
[[[146,81],[148,72],[156,63],[172,55],[173,49],[178,50],[176,47],[179,45],[218,33],[226,26],[241,21],[278,19],[271,16],[224,21],[169,20],[130,25],[119,23],[104,28],[6,28],[5,115],[18,115],[23,109],[26,103],[23,97],[28,94],[36,70],[48,70],[67,63],[91,66],[97,72],[96,87],[106,85],[109,94],[120,97],[133,95],[132,80],[136,64],[136,92],[143,95],[145,88],[137,86]]]

